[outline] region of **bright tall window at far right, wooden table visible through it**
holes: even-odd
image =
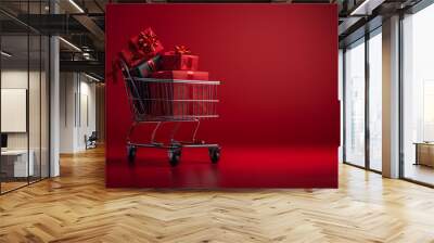
[[[434,186],[434,4],[403,24],[401,177]]]

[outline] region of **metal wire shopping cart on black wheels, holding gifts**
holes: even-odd
[[[201,119],[217,118],[217,87],[220,81],[180,80],[133,77],[125,62],[120,61],[125,87],[132,112],[132,124],[127,136],[127,154],[135,162],[138,148],[167,149],[171,166],[181,157],[182,148],[207,148],[213,164],[220,158],[220,146],[196,139]],[[155,136],[164,123],[175,123],[169,142],[157,142]],[[195,123],[191,141],[177,141],[176,133],[181,123]],[[148,143],[131,141],[137,126],[154,124]]]

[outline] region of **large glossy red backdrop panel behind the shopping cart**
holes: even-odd
[[[166,50],[188,46],[200,55],[199,69],[221,80],[220,118],[199,131],[221,144],[217,166],[206,151],[186,150],[170,168],[165,151],[152,149],[128,165],[131,113],[112,62],[145,27]],[[105,29],[108,187],[337,187],[335,5],[108,4]],[[145,140],[148,130],[135,138]]]

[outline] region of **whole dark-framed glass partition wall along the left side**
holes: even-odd
[[[21,1],[23,13],[47,11]],[[11,2],[0,3],[12,4]],[[12,7],[12,5],[8,5]],[[23,17],[26,14],[17,15]],[[49,177],[49,38],[0,12],[0,193]],[[9,26],[13,25],[13,28]],[[13,31],[12,31],[13,30]]]

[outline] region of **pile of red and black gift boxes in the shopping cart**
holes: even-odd
[[[162,42],[151,28],[129,39],[128,48],[120,51],[132,76],[155,79],[208,80],[208,72],[197,71],[199,56],[191,54],[184,46],[176,46],[173,51],[164,51]],[[142,84],[137,87],[142,99],[162,100],[145,104],[146,113],[156,116],[191,115],[189,103],[175,103],[167,100],[194,99],[197,94],[186,87],[179,92],[174,84]],[[164,88],[165,90],[162,90]],[[178,88],[179,89],[179,88]],[[163,101],[165,100],[165,101]]]

